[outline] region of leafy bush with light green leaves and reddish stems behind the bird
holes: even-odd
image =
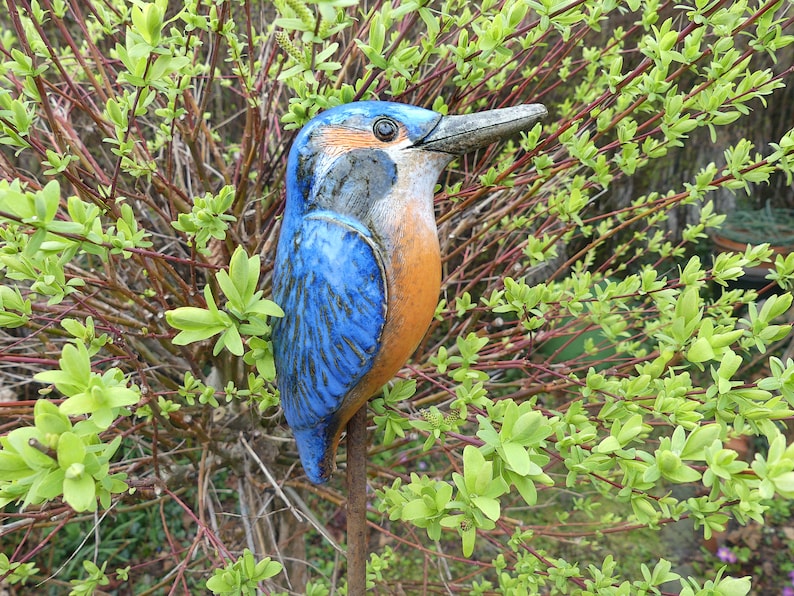
[[[267,296],[294,130],[378,98],[442,113],[537,101],[551,117],[458,160],[439,188],[444,295],[371,403],[383,546],[369,581],[749,591],[722,571],[681,577],[675,552],[605,549],[678,520],[708,537],[794,496],[780,320],[794,256],[707,256],[725,191],[792,184],[794,129],[769,125],[792,74],[790,4],[8,6],[6,582],[320,594],[338,581],[344,487],[313,488],[295,465]],[[683,173],[660,182],[674,159]],[[730,285],[759,266],[781,291],[763,303]],[[760,446],[751,461],[729,444],[741,436]],[[114,535],[114,520],[145,531]]]

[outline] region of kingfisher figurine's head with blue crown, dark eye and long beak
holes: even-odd
[[[321,209],[368,225],[373,209],[399,208],[389,201],[396,194],[427,202],[432,216],[433,187],[456,155],[526,130],[545,114],[539,104],[465,116],[386,101],[331,108],[292,146],[285,219]]]

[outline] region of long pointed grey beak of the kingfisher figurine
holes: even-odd
[[[528,130],[546,114],[544,105],[533,103],[465,116],[444,116],[414,147],[462,155]]]

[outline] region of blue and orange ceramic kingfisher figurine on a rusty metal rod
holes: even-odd
[[[297,135],[273,272],[276,383],[309,480],[334,470],[345,424],[408,360],[435,313],[433,189],[455,156],[530,128],[539,104],[465,116],[379,101]]]

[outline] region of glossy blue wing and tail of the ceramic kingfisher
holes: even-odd
[[[386,284],[372,241],[356,224],[315,212],[290,236],[279,243],[273,274],[285,313],[273,325],[273,351],[284,414],[317,482],[313,476],[330,473],[322,466],[333,439],[329,422],[380,348]]]

